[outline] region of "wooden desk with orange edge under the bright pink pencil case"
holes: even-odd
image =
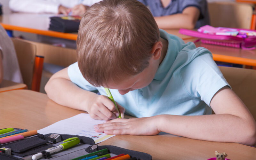
[[[187,42],[194,42],[198,38],[184,40]],[[242,64],[248,66],[256,66],[256,49],[254,50],[243,50],[239,48],[203,44],[196,42],[196,47],[204,47],[212,52],[213,60]]]

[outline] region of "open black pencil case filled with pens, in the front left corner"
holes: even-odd
[[[52,134],[52,133],[51,133]],[[15,142],[10,142],[6,144],[0,144],[0,148],[6,147],[6,148],[11,148],[12,154],[7,155],[4,153],[0,153],[0,159],[3,160],[31,160],[32,155],[35,155],[36,153],[42,152],[48,148],[52,148],[54,146],[58,146],[60,144],[63,144],[63,140],[67,140],[72,137],[77,137],[80,140],[80,143],[68,148],[66,150],[51,154],[51,155],[44,155],[44,158],[46,159],[53,159],[53,160],[71,160],[80,156],[87,155],[89,153],[101,150],[101,149],[108,149],[108,154],[110,154],[111,157],[117,156],[120,154],[128,154],[131,158],[136,157],[137,160],[151,160],[152,156],[143,153],[143,152],[138,152],[134,150],[129,150],[125,148],[120,148],[116,146],[111,146],[111,145],[104,145],[104,146],[97,146],[95,145],[95,142],[92,138],[89,137],[84,137],[84,136],[78,136],[78,135],[67,135],[67,134],[59,134],[61,137],[61,141],[55,144],[51,144],[47,141],[47,137],[50,136],[51,134],[37,134],[36,136],[31,136],[27,137],[26,139],[15,141]],[[38,145],[36,146],[35,144],[26,144],[26,141],[29,139],[35,139],[33,141],[37,142],[31,142],[31,143],[37,143]],[[31,141],[31,140],[30,140]],[[42,144],[42,141],[46,141],[44,144]],[[20,144],[25,144],[24,147]],[[32,146],[32,148],[31,148]],[[21,152],[20,152],[21,151]],[[40,159],[44,159],[40,158]],[[83,159],[83,158],[81,158]]]

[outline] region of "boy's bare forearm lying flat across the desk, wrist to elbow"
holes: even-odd
[[[159,115],[156,118],[157,128],[161,132],[198,140],[237,142],[249,146],[256,143],[255,124],[234,115]]]

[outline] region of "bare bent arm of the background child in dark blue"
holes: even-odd
[[[198,8],[190,6],[183,10],[182,13],[172,14],[168,16],[155,17],[158,28],[188,28],[194,29],[199,18],[200,11]]]

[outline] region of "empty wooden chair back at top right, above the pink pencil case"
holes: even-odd
[[[212,2],[208,10],[213,27],[251,28],[253,8],[249,4]]]

